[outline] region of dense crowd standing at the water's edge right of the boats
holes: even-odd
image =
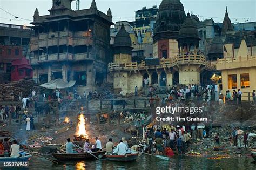
[[[205,131],[205,128],[208,128],[208,131]],[[165,148],[171,148],[172,152],[177,150],[182,154],[187,151],[189,145],[208,138],[210,133],[210,127],[205,127],[203,122],[193,123],[191,126],[170,125],[168,129],[155,125],[144,131],[143,140],[146,141],[147,152],[156,151],[156,154],[161,155]]]

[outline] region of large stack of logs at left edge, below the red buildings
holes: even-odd
[[[0,100],[10,100],[11,91],[14,92],[14,100],[18,100],[19,92],[22,92],[23,98],[28,97],[33,90],[38,91],[40,88],[32,79],[22,79],[7,84],[0,84]]]

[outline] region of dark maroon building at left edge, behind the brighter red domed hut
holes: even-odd
[[[22,46],[0,45],[0,83],[11,80],[11,62],[22,59]]]

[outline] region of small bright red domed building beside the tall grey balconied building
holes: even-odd
[[[29,60],[25,57],[15,59],[11,62],[11,81],[18,81],[23,78],[32,78],[33,69],[29,65]]]

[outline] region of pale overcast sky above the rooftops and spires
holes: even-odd
[[[256,0],[180,0],[185,12],[200,16],[199,19],[213,18],[215,22],[222,22],[227,6],[232,23],[256,21]],[[96,0],[98,10],[106,13],[111,8],[113,22],[134,21],[135,13],[144,6],[152,8],[153,5],[160,5],[161,0]],[[0,23],[11,23],[30,25],[33,12],[38,8],[39,16],[48,15],[52,6],[52,0],[0,0]],[[91,0],[80,0],[80,9],[87,9],[91,6]],[[76,10],[76,2],[72,2],[72,9]],[[21,19],[24,18],[24,19]],[[11,20],[10,20],[11,19]]]

